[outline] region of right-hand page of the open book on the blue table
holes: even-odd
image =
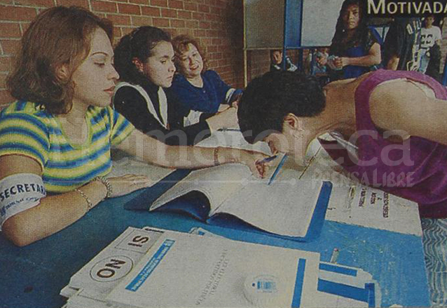
[[[305,236],[322,182],[275,180],[248,182],[214,213],[230,213],[271,233]]]

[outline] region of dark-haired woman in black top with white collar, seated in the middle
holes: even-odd
[[[115,48],[115,67],[121,77],[114,107],[136,128],[168,145],[193,145],[223,128],[235,109],[189,126],[191,109],[169,88],[174,77],[170,34],[144,26],[123,36]]]

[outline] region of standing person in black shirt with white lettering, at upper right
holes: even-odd
[[[387,69],[417,71],[420,59],[420,18],[395,18],[388,30],[384,49]]]

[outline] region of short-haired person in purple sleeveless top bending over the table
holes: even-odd
[[[447,217],[447,91],[418,72],[380,69],[320,88],[312,76],[270,72],[254,79],[238,107],[248,142],[305,165],[311,140],[350,178],[419,204],[421,217]],[[259,121],[263,119],[263,121]]]

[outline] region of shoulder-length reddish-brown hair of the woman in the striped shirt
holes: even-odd
[[[71,76],[88,55],[97,28],[112,40],[111,22],[84,8],[57,6],[39,14],[23,34],[8,76],[11,95],[42,105],[51,114],[69,112],[74,91]],[[57,73],[62,66],[67,74]]]

